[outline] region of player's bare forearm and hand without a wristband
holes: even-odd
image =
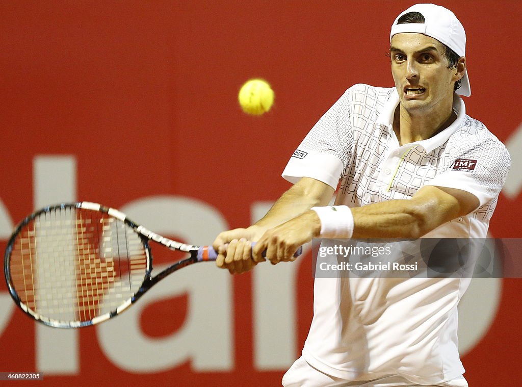
[[[334,189],[326,183],[311,178],[302,178],[283,193],[268,213],[248,228],[237,228],[221,232],[212,243],[218,251],[216,265],[229,269],[232,274],[243,273],[254,267],[251,242],[284,222],[295,218],[314,206],[325,206]]]

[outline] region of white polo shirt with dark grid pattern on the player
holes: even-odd
[[[465,190],[479,207],[426,238],[485,238],[511,166],[505,146],[466,115],[454,95],[455,122],[435,136],[399,145],[395,88],[354,85],[304,138],[283,171],[337,188],[336,205],[409,199],[420,187]],[[458,377],[457,304],[470,279],[316,278],[314,318],[303,349],[317,369],[346,380],[401,374],[412,383]]]

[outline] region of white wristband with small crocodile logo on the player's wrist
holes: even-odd
[[[321,220],[321,238],[348,239],[353,234],[353,215],[348,206],[312,207]]]

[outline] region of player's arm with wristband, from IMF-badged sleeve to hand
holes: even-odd
[[[417,191],[409,200],[390,200],[363,207],[339,208],[329,212],[319,209],[325,225],[315,210],[309,210],[288,222],[265,232],[259,242],[294,245],[312,238],[399,238],[415,239],[445,224],[465,216],[494,200],[500,193],[511,166],[511,157],[499,140],[489,136],[462,153],[455,148],[446,168]],[[458,159],[475,161],[472,172],[452,168]],[[337,209],[337,208],[336,208]],[[353,217],[353,224],[350,219]],[[280,247],[278,251],[284,251]],[[290,257],[271,257],[272,263]]]

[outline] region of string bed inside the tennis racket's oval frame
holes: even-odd
[[[21,230],[9,264],[13,287],[34,314],[83,322],[116,310],[137,292],[148,254],[121,220],[62,208]]]

